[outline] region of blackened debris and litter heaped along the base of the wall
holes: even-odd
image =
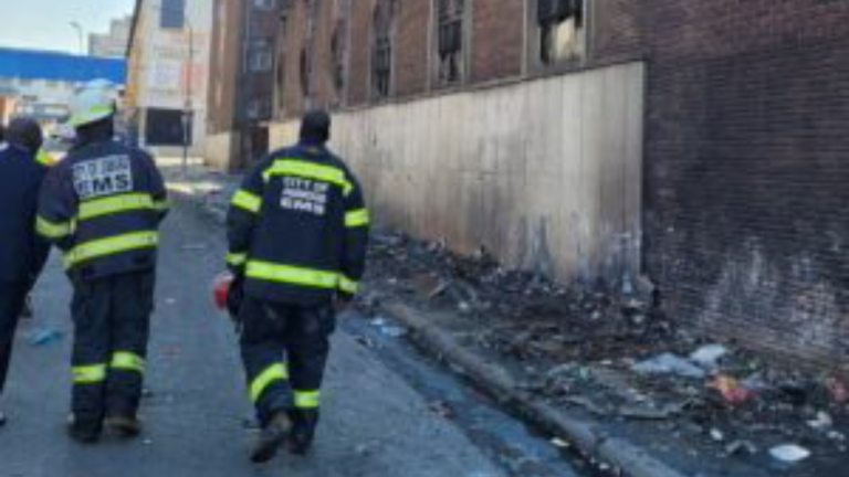
[[[481,252],[380,233],[364,308],[402,299],[448,311],[469,344],[518,370],[528,392],[623,425],[650,423],[723,457],[845,455],[849,373],[811,375],[703,342],[650,299],[566,288]]]

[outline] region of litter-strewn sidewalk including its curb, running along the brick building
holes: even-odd
[[[238,179],[192,167],[171,188],[223,216]],[[845,379],[703,342],[636,298],[382,232],[360,305],[554,442],[625,475],[830,477],[849,463]]]

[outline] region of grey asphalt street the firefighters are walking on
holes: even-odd
[[[252,466],[252,412],[235,337],[209,299],[221,268],[220,227],[178,203],[163,242],[144,436],[94,447],[66,438],[70,288],[53,259],[35,294],[36,318],[20,331],[1,403],[10,422],[0,430],[0,477],[509,475],[347,333],[336,337],[315,453]],[[64,338],[30,344],[44,329]]]

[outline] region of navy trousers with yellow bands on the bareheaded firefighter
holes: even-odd
[[[266,423],[276,412],[317,410],[329,336],[335,329],[333,310],[266,304],[248,297],[240,318],[244,325],[242,361],[260,423]],[[286,368],[281,378],[284,359]]]

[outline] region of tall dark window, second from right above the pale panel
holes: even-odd
[[[437,0],[437,55],[439,82],[459,83],[464,71],[467,0]]]

